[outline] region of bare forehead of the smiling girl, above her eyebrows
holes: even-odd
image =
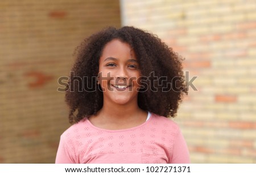
[[[108,42],[104,49],[102,50],[101,58],[133,58],[137,59],[135,57],[134,50],[131,48],[131,46],[127,42],[123,42],[118,39],[114,39],[110,42]]]

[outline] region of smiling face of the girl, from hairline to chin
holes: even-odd
[[[140,75],[139,63],[129,44],[114,39],[105,45],[98,76],[104,103],[138,104]]]

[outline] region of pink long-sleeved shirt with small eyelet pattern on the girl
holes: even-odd
[[[169,118],[151,114],[131,129],[100,129],[87,118],[60,137],[55,163],[190,163],[179,126]]]

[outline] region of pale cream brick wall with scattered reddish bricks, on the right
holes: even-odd
[[[122,25],[156,33],[198,76],[175,121],[192,163],[256,163],[256,1],[121,1]]]

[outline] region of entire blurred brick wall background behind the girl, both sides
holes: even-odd
[[[185,58],[174,121],[192,163],[256,163],[256,1],[1,0],[0,163],[54,163],[70,125],[60,76],[108,27],[158,35]]]

